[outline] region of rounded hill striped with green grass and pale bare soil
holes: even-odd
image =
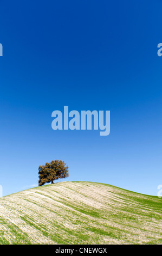
[[[0,198],[0,244],[162,243],[162,199],[58,182]]]

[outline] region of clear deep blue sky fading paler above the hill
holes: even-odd
[[[3,194],[34,186],[38,166],[61,159],[67,181],[157,195],[162,2],[10,0],[0,9]],[[63,106],[110,110],[110,135],[52,130]]]

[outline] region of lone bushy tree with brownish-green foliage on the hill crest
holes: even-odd
[[[66,178],[69,176],[68,173],[68,166],[66,166],[66,163],[61,160],[54,160],[50,163],[46,163],[43,166],[39,166],[38,174],[39,174],[39,181],[38,185],[42,186],[45,183],[51,182],[51,184],[54,183],[54,180]]]

